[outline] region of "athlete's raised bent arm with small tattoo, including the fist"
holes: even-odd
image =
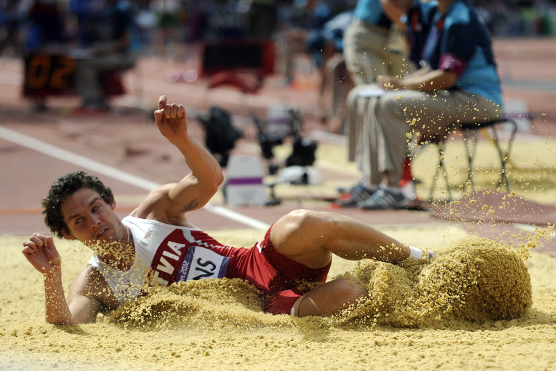
[[[215,195],[224,175],[218,161],[189,135],[186,109],[181,104],[167,104],[166,100],[164,95],[158,100],[158,110],[154,111],[156,126],[181,151],[190,173],[179,183],[153,190],[131,215],[182,225],[186,223],[186,212],[202,208]]]

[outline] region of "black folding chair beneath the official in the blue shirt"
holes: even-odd
[[[505,150],[502,149],[502,143],[498,135],[498,129],[496,128],[496,126],[498,126],[499,124],[504,124],[504,123],[507,123],[511,126],[509,139],[507,141],[507,148]],[[514,119],[510,119],[507,117],[500,117],[498,119],[494,119],[488,122],[464,122],[464,123],[460,122],[458,124],[454,124],[450,129],[453,129],[453,131],[450,130],[451,132],[460,131],[464,135],[463,142],[464,142],[464,147],[466,149],[467,162],[468,162],[468,179],[466,181],[466,185],[471,183],[472,191],[475,190],[475,182],[473,181],[473,157],[475,156],[475,153],[477,151],[477,133],[479,131],[482,131],[483,133],[486,132],[486,134],[488,134],[488,130],[491,131],[491,135],[489,135],[488,138],[489,141],[494,145],[494,147],[496,147],[498,156],[500,158],[501,175],[500,175],[500,180],[498,181],[498,186],[501,186],[502,183],[504,183],[507,191],[509,192],[509,180],[507,177],[506,165],[507,165],[507,160],[509,159],[510,152],[512,151],[512,145],[514,144],[514,138],[516,136],[517,129],[518,129],[516,121]],[[446,137],[441,138],[438,142],[434,142],[434,143],[431,142],[431,144],[436,144],[436,146],[439,149],[439,163],[438,166],[436,167],[436,170],[434,171],[432,186],[430,187],[430,192],[429,192],[429,199],[431,200],[433,199],[434,189],[436,188],[436,182],[439,180],[438,176],[440,171],[443,172],[443,179],[446,183],[446,188],[448,190],[448,201],[452,200],[452,189],[450,186],[450,182],[448,181],[448,171],[446,170],[445,160],[444,160],[445,139]]]

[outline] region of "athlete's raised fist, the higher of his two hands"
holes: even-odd
[[[158,110],[154,111],[154,120],[162,135],[179,147],[188,139],[186,108],[181,104],[167,104],[166,96],[158,99]]]

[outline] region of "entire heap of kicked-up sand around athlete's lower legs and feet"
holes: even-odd
[[[452,242],[432,263],[364,262],[345,277],[369,291],[368,301],[347,313],[350,321],[424,327],[450,320],[511,320],[532,305],[525,263],[510,247],[486,238]]]

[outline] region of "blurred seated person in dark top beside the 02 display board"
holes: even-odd
[[[95,19],[95,33],[86,45],[90,55],[79,60],[76,89],[81,95],[82,108],[109,108],[101,77],[106,72],[122,71],[136,63],[138,40],[133,11],[127,1],[106,0],[105,7]]]

